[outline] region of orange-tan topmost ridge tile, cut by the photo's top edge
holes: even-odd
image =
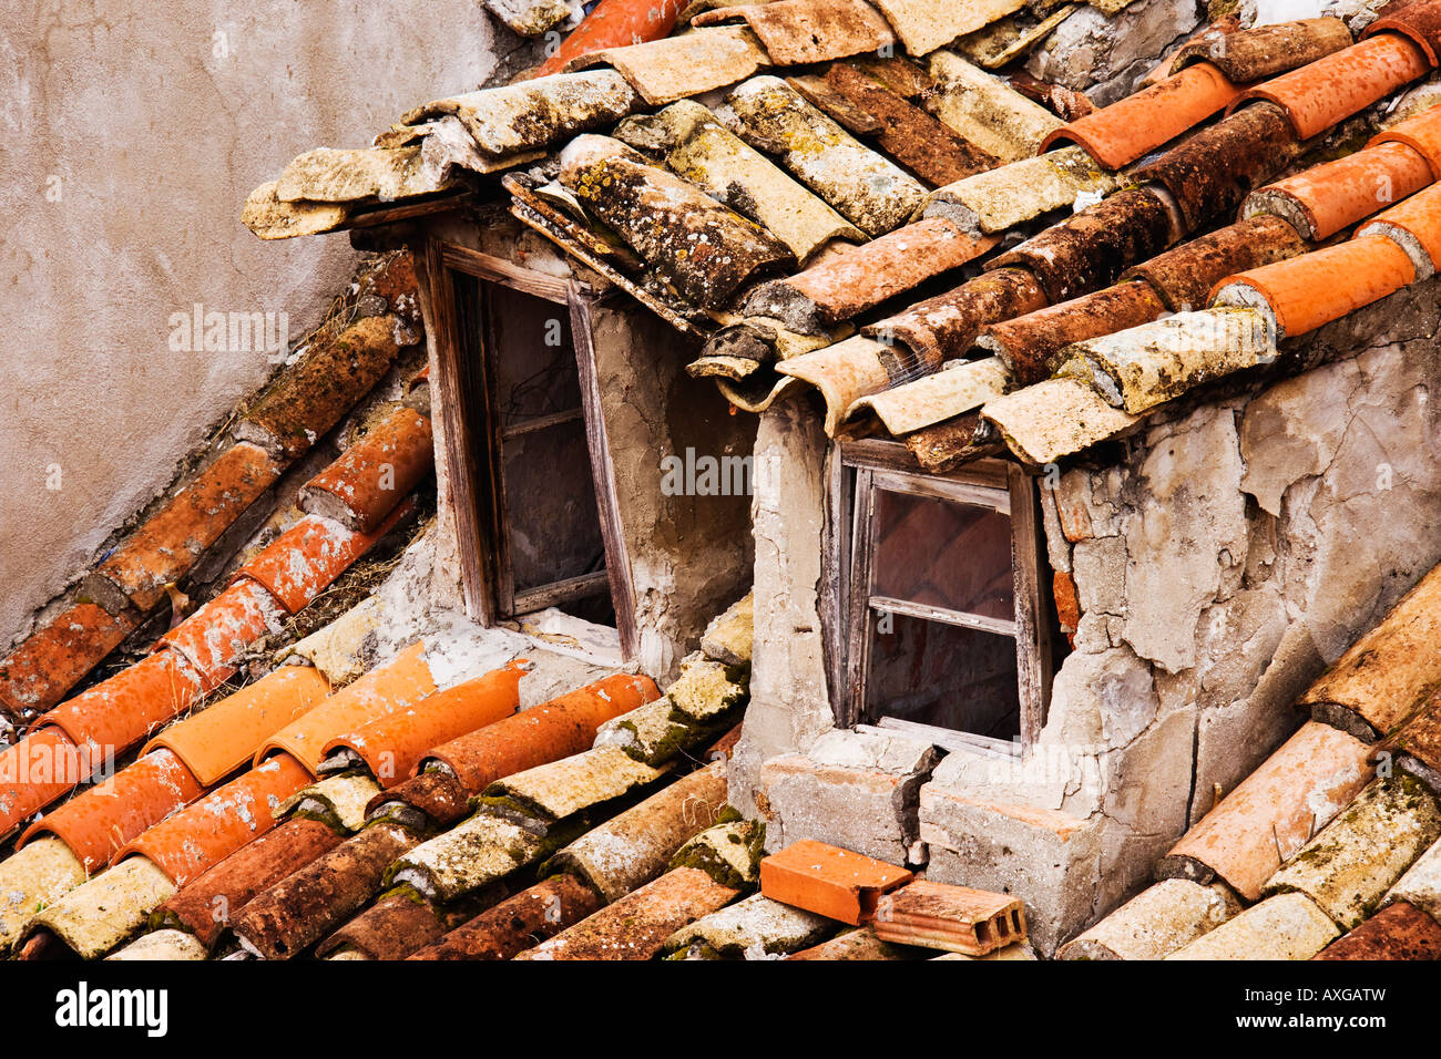
[[[716,7],[697,14],[692,26],[744,19],[771,59],[782,66],[844,59],[895,43],[895,35],[875,7],[862,0],[771,0]]]

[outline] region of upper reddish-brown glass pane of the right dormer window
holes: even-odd
[[[878,488],[872,594],[1014,621],[1010,516]]]

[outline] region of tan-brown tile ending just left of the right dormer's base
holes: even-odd
[[[542,872],[569,872],[614,902],[656,879],[726,807],[725,762],[712,762],[586,831]]]

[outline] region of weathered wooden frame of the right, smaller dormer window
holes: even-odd
[[[1036,481],[1022,467],[1004,460],[976,460],[948,474],[916,468],[905,445],[866,438],[837,441],[827,461],[826,573],[823,576],[823,627],[830,645],[829,679],[833,710],[840,728],[860,723],[866,707],[870,669],[869,592],[875,556],[876,488],[978,504],[1003,510],[1012,523],[1012,573],[1014,618],[1010,622],[942,612],[906,601],[885,601],[893,614],[944,621],[1016,638],[1016,673],[1020,697],[1020,743],[1027,752],[1040,735],[1050,699],[1050,622],[1042,598],[1039,497]],[[1004,625],[1004,628],[1001,628]],[[901,725],[893,725],[899,728]],[[908,725],[909,728],[929,728]],[[934,729],[951,733],[951,729]],[[961,733],[961,742],[970,733]],[[976,739],[984,739],[976,736]],[[996,742],[996,741],[989,741]]]

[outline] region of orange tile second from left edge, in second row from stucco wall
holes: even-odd
[[[118,754],[190,709],[200,694],[192,666],[176,651],[161,650],[61,703],[35,722],[33,735],[53,726],[76,745]]]

